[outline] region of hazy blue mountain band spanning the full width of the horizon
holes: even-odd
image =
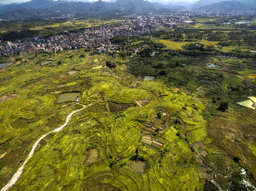
[[[161,3],[164,3],[161,4]],[[99,0],[97,2],[87,0],[32,0],[26,3],[0,4],[0,19],[38,19],[61,14],[86,14],[113,11],[127,11],[135,13],[143,12],[171,12],[184,9],[193,10],[222,10],[222,11],[251,11],[256,10],[254,0],[223,1],[200,0],[192,2],[173,2],[153,0]]]

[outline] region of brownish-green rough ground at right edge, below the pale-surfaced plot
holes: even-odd
[[[227,117],[213,116],[207,127],[211,142],[207,148],[216,151],[208,154],[203,162],[222,175],[228,175],[227,167],[238,159],[248,172],[255,176],[255,157],[246,140],[255,140],[255,111],[237,107],[225,112]],[[242,156],[242,157],[240,157]]]

